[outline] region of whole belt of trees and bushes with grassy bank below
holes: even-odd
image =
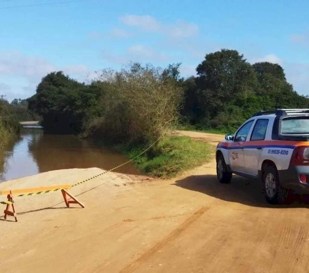
[[[160,137],[136,164],[146,174],[171,177],[210,159],[211,147],[172,128],[225,133],[273,108],[309,108],[278,64],[251,65],[236,50],[205,55],[197,76],[180,77],[180,63],[156,68],[132,63],[97,72],[91,84],[49,73],[28,99],[45,130],[75,133],[116,145],[133,157]]]

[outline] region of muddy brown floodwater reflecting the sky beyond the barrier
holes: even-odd
[[[78,136],[48,134],[37,126],[24,127],[18,139],[0,148],[0,182],[59,169],[98,167],[108,170],[127,160],[109,147]],[[133,163],[115,171],[138,174]]]

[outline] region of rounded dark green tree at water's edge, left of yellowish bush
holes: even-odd
[[[37,86],[36,94],[29,99],[29,109],[42,116],[47,130],[79,133],[87,111],[98,101],[97,91],[61,71],[52,72]]]

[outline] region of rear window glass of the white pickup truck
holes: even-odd
[[[309,134],[309,118],[297,117],[283,119],[281,123],[281,134]]]

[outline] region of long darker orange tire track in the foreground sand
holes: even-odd
[[[180,233],[182,233],[185,229],[187,229],[190,225],[192,225],[193,222],[195,222],[198,218],[200,218],[203,215],[203,213],[209,209],[210,209],[209,207],[202,207],[199,210],[197,210],[193,215],[187,218],[187,220],[185,220],[176,229],[174,229],[171,233],[169,233],[163,240],[157,242],[153,247],[151,247],[137,259],[129,263],[120,272],[121,273],[133,272],[140,264],[148,260],[158,250],[163,248],[169,242],[174,241],[180,235]]]

